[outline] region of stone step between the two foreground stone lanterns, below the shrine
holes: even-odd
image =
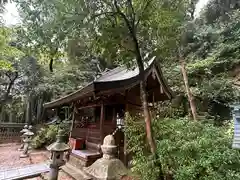
[[[76,180],[92,180],[82,169],[76,168],[69,163],[66,163],[62,170]]]

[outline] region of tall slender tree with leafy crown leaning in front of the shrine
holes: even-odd
[[[88,1],[88,25],[103,48],[103,55],[112,55],[139,69],[140,94],[145,118],[145,128],[152,154],[156,145],[152,135],[151,116],[148,108],[144,61],[146,53],[157,53],[160,44],[172,43],[178,33],[182,14],[177,13],[179,2],[159,1]],[[154,11],[153,11],[154,9]],[[172,36],[172,37],[171,37]],[[107,38],[107,41],[106,41]],[[166,40],[169,38],[168,40]],[[104,42],[106,41],[106,42]],[[171,44],[172,45],[172,44]],[[162,48],[158,49],[159,51]],[[135,61],[133,61],[135,59]]]

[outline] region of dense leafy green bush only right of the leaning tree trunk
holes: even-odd
[[[232,124],[165,119],[155,122],[158,153],[175,179],[238,179],[239,152],[231,149]]]

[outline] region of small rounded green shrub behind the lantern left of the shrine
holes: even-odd
[[[45,146],[55,142],[59,127],[64,130],[64,137],[65,141],[67,142],[69,135],[69,126],[65,124],[60,124],[60,126],[49,125],[46,127],[42,127],[37,131],[37,134],[32,141],[33,147],[35,149],[44,148]]]

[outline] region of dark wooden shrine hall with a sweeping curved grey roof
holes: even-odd
[[[156,57],[145,64],[144,77],[149,103],[172,98],[172,92],[163,78]],[[129,70],[117,67],[105,72],[86,87],[44,104],[45,109],[66,105],[74,107],[69,138],[72,147],[69,163],[75,166],[91,165],[101,157],[100,145],[104,137],[116,130],[117,122],[124,122],[125,112],[142,112],[139,82],[138,68]],[[123,132],[117,131],[114,137],[119,159],[127,161]]]

